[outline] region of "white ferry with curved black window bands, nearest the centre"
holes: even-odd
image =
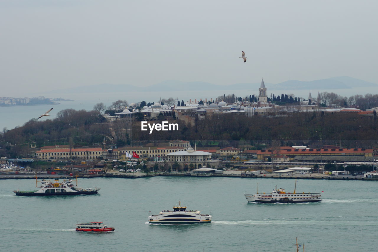
[[[186,210],[186,207],[173,207],[173,211],[163,210],[158,215],[148,216],[148,222],[153,224],[193,224],[210,223],[211,215],[203,215],[197,210]]]

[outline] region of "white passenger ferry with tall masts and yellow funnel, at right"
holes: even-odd
[[[296,181],[295,181],[296,182]],[[295,183],[296,185],[296,183]],[[322,201],[321,193],[296,193],[294,187],[294,193],[288,193],[283,188],[277,189],[277,186],[274,188],[272,193],[265,194],[259,193],[257,184],[257,193],[255,194],[244,194],[245,198],[247,199],[248,203],[302,203],[302,202],[319,202]]]

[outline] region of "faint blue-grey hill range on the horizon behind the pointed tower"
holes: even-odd
[[[363,81],[348,76],[333,77],[328,79],[319,79],[315,81],[284,81],[278,84],[265,82],[265,86],[271,90],[295,90],[295,89],[350,89],[353,87],[378,87],[372,82]],[[149,91],[149,92],[165,92],[165,91],[189,91],[189,90],[257,90],[260,82],[255,83],[235,83],[230,85],[217,85],[203,81],[176,81],[168,80],[159,82],[148,87],[139,87],[130,84],[98,84],[89,86],[79,86],[67,89],[52,90],[48,93],[114,93],[132,91]]]

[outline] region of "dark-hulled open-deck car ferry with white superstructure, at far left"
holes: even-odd
[[[41,185],[38,186],[38,182],[41,182]],[[37,181],[36,177],[36,187],[39,187],[39,190],[35,191],[19,191],[14,190],[13,192],[17,196],[51,196],[51,195],[77,195],[77,194],[97,194],[100,188],[79,188],[77,187],[77,177],[76,177],[76,186],[74,186],[73,180],[63,180],[61,183],[59,179],[54,179],[53,182],[50,180]]]

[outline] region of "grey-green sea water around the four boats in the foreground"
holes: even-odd
[[[293,179],[159,176],[79,179],[99,194],[31,197],[12,190],[32,190],[34,180],[0,180],[0,251],[296,251],[296,237],[305,251],[376,251],[376,181],[298,180],[297,192],[324,191],[322,202],[247,203],[257,182],[259,193],[294,190]],[[179,201],[212,222],[148,224]],[[87,221],[115,232],[75,231]]]

